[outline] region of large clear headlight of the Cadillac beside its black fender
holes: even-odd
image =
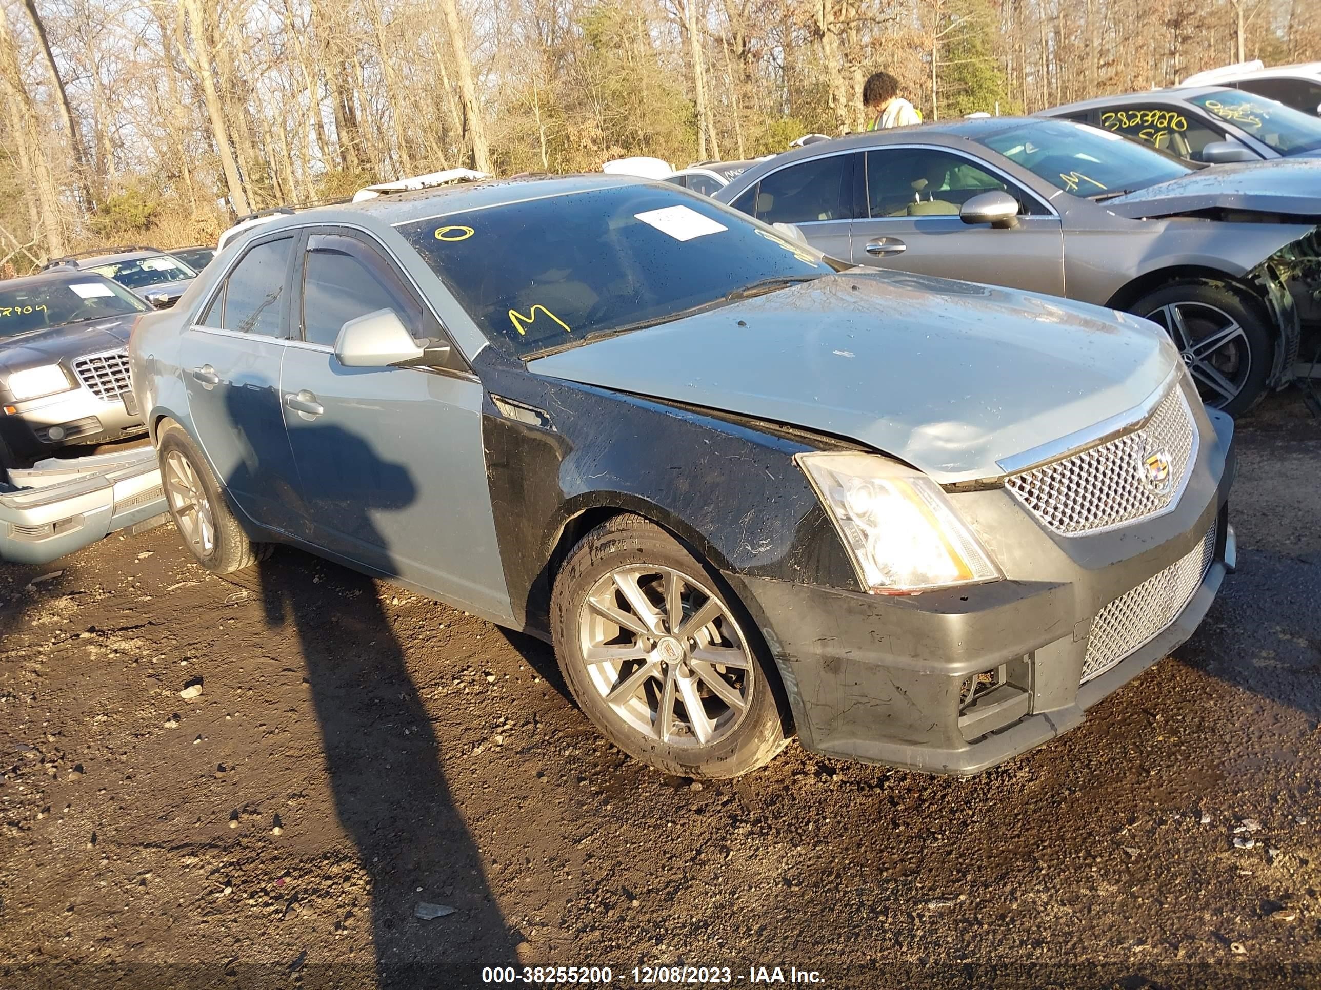
[[[1000,577],[945,492],[921,471],[876,454],[794,459],[835,520],[869,591],[914,594]]]

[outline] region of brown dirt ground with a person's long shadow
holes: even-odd
[[[663,777],[543,644],[293,550],[0,565],[0,985],[1321,986],[1321,425],[1276,396],[1239,457],[1194,639],[972,780]]]

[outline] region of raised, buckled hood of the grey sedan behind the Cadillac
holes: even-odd
[[[1103,206],[1132,219],[1221,209],[1321,220],[1321,158],[1217,165],[1107,199]]]

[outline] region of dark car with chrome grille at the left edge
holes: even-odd
[[[120,396],[128,331],[148,312],[91,272],[0,281],[0,469],[144,432]]]

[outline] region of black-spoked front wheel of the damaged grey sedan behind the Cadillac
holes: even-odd
[[[1238,416],[1266,392],[1273,334],[1260,308],[1238,292],[1174,282],[1137,300],[1132,312],[1165,327],[1207,405]]]

